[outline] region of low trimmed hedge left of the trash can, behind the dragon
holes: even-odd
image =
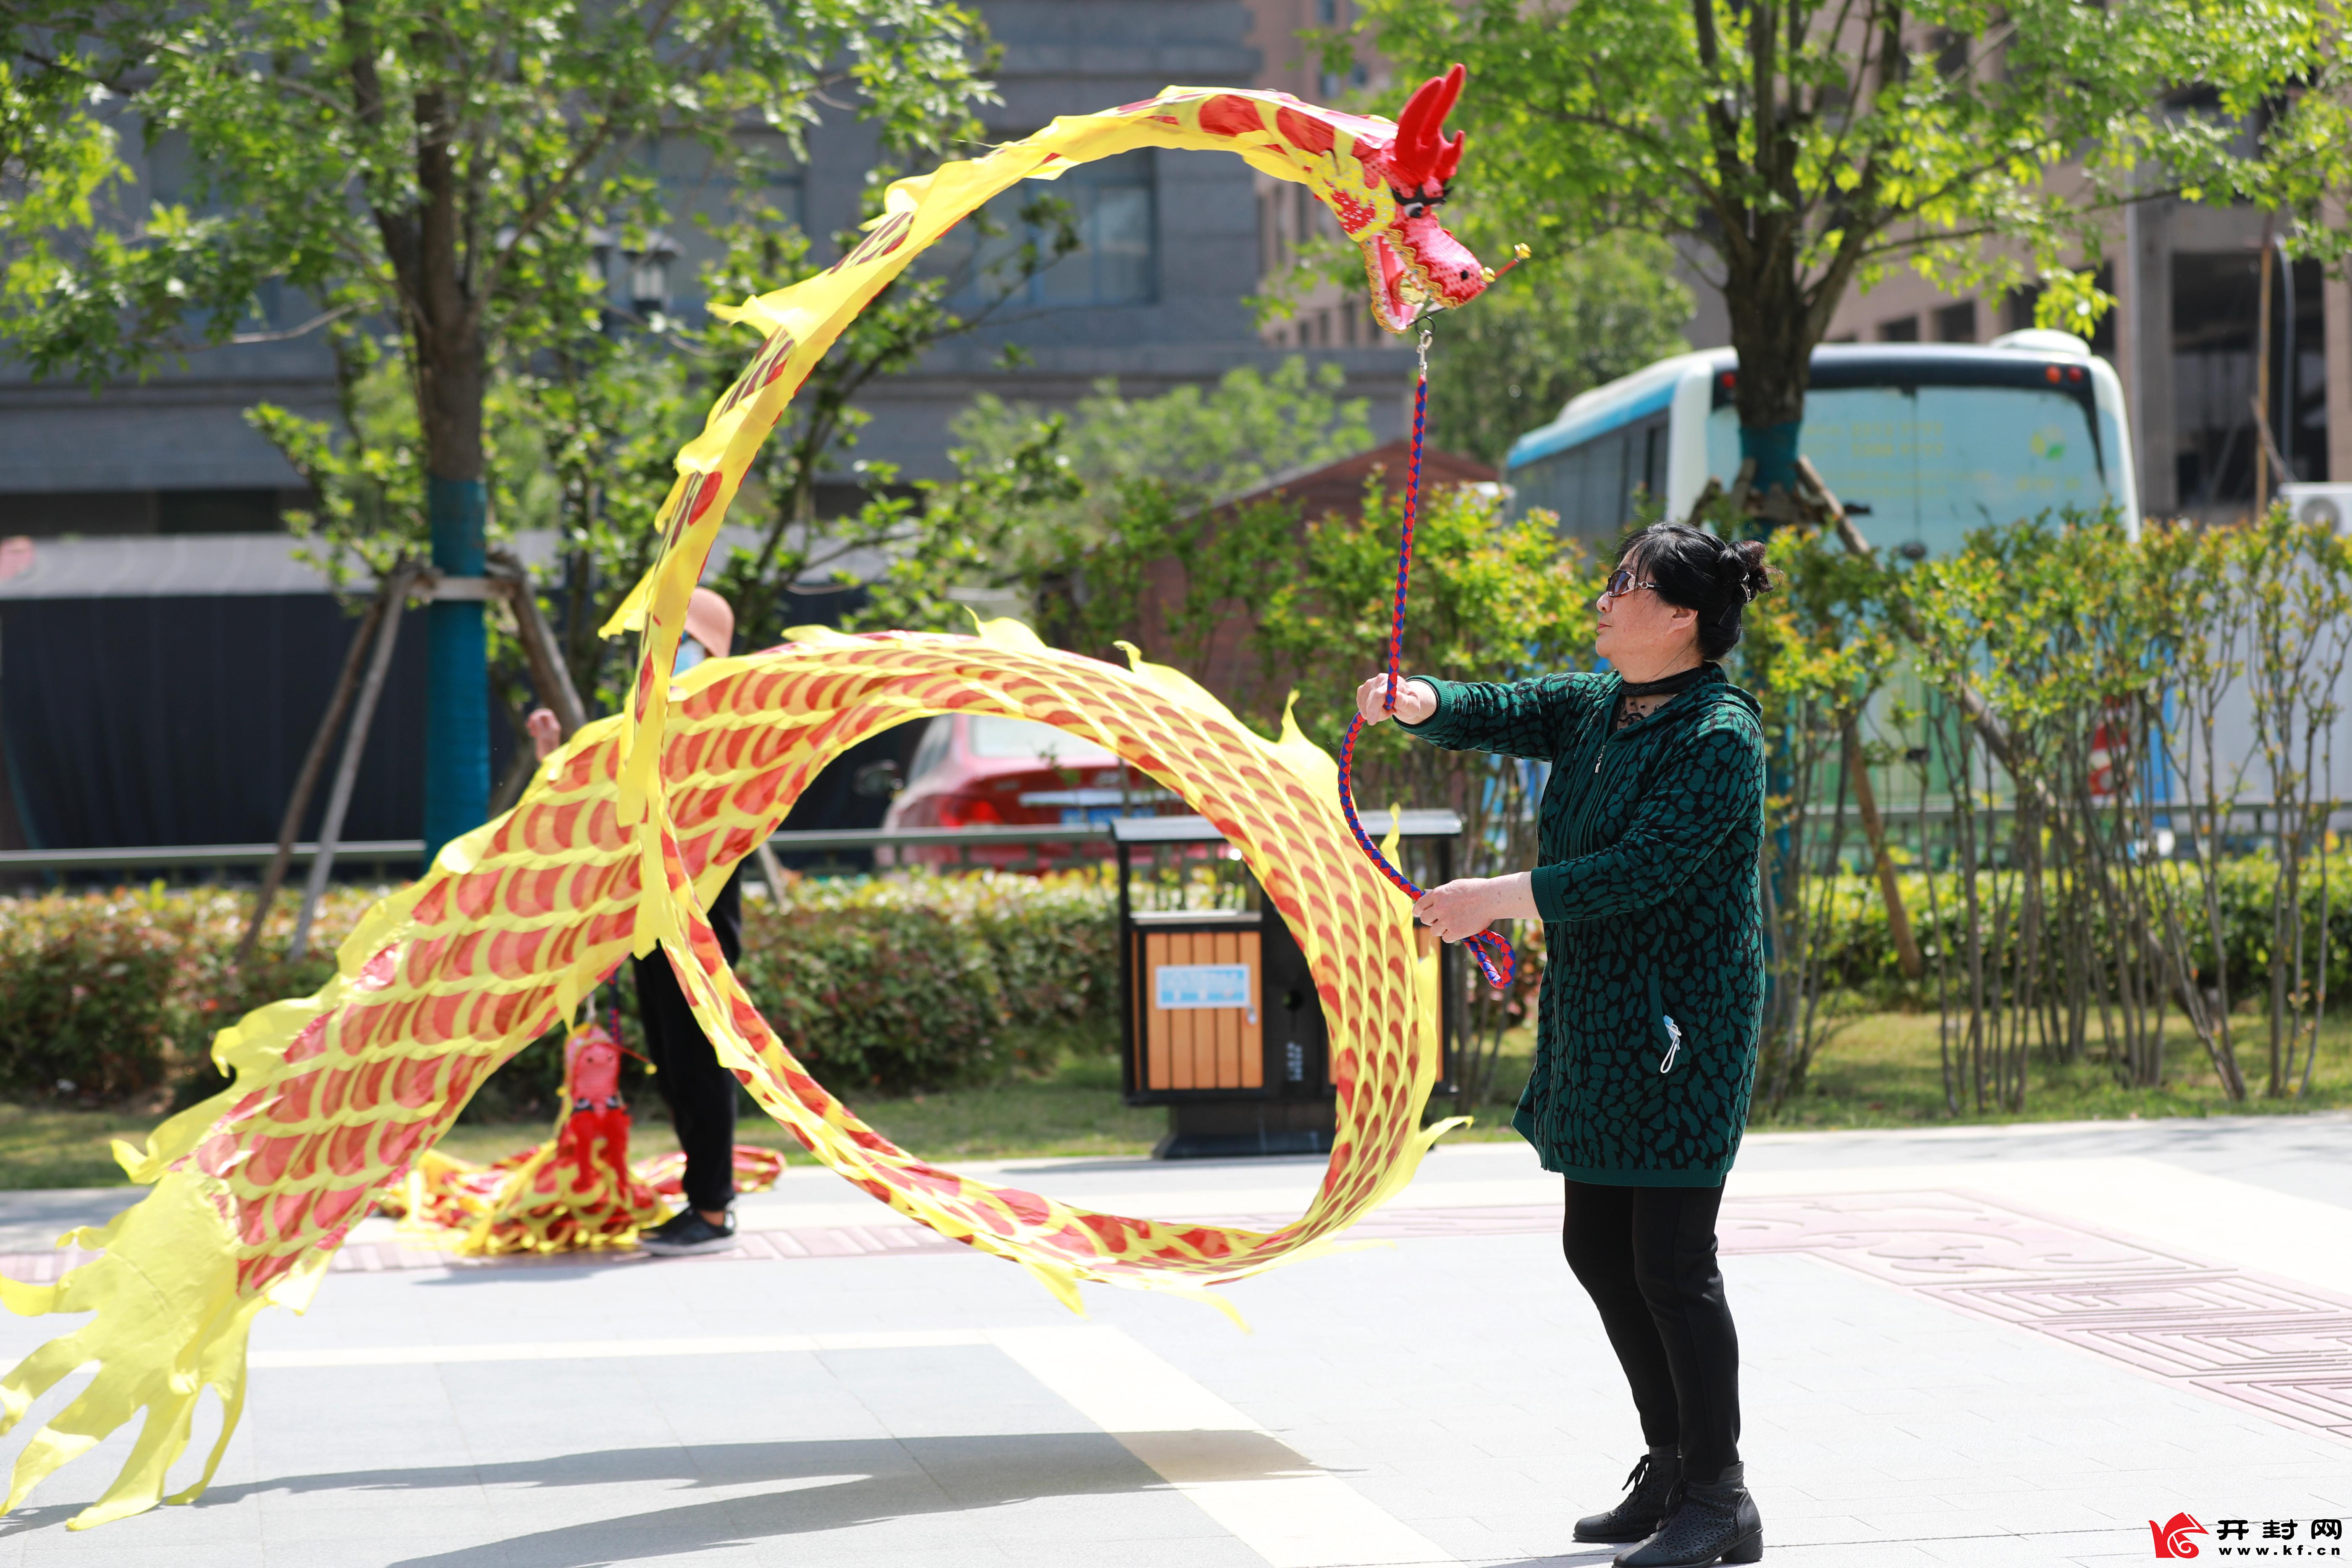
[[[228,957],[249,891],[158,884],[0,898],[0,1098],[160,1107],[212,1093],[212,1032],[325,985],[334,945],[383,891],[339,889],[320,917],[320,952],[245,973]],[[1091,872],[795,882],[781,905],[746,900],[739,973],[833,1088],[943,1088],[1004,1072],[1023,1053],[1108,1048],[1115,907],[1112,886]],[[263,952],[282,952],[289,933],[292,907],[280,900]],[[642,1048],[628,964],[600,1004],[621,1006],[623,1034]],[[555,1044],[524,1048],[482,1086],[470,1117],[550,1110],[562,1079]]]

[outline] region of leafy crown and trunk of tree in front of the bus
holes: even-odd
[[[1367,0],[1359,26],[1404,80],[1470,66],[1456,200],[1479,233],[1555,252],[1649,233],[1705,259],[1762,482],[1790,482],[1809,355],[1849,287],[2039,273],[2044,317],[2086,322],[2110,301],[2079,259],[2122,202],[2317,221],[2352,146],[2314,0]]]

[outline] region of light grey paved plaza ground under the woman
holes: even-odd
[[[1319,1175],[997,1171],[1169,1218],[1291,1215]],[[0,1194],[0,1272],[127,1197]],[[1127,1291],[1075,1319],[816,1168],[743,1215],[729,1258],[510,1265],[372,1220],[261,1319],[202,1502],[68,1535],[118,1436],[0,1521],[0,1568],[1611,1556],[1569,1526],[1639,1436],[1519,1145],[1444,1147],[1376,1246],[1230,1288],[1251,1333]],[[2180,1512],[2201,1556],[2272,1521],[2326,1554],[2352,1521],[2352,1117],[1759,1135],[1722,1239],[1766,1561],[2147,1561]],[[0,1319],[0,1361],[64,1324]]]

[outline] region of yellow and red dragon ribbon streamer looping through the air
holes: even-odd
[[[212,1387],[221,1439],[169,1502],[200,1495],[235,1432],[259,1309],[303,1309],[334,1248],[473,1088],[656,943],[720,1060],[818,1159],[941,1234],[1023,1265],[1073,1307],[1080,1281],[1204,1295],[1327,1251],[1411,1180],[1442,1131],[1421,1128],[1437,1072],[1435,961],[1404,898],[1350,844],[1331,759],[1296,729],[1268,743],[1174,670],[1061,654],[1002,621],[981,637],[804,632],[675,684],[666,672],[727,501],[814,360],[922,247],[1016,179],[1138,146],[1232,150],[1334,207],[1364,244],[1390,327],[1475,296],[1475,259],[1432,216],[1458,158],[1458,139],[1437,139],[1458,75],[1442,87],[1416,94],[1399,125],[1228,89],[1056,120],[988,158],[898,181],[833,270],[736,308],[767,343],[682,451],[659,517],[663,552],[616,616],[642,623],[630,710],[586,726],[510,813],[369,910],[318,994],[221,1030],[214,1060],[233,1086],[165,1121],[143,1152],[115,1145],[153,1192],[103,1229],[64,1237],[101,1248],[94,1262],[54,1286],[0,1279],[14,1312],[96,1314],[0,1380],[7,1429],[96,1366],[19,1453],[5,1509],[141,1410],[122,1472],[73,1526],[153,1507]],[[938,712],[1037,719],[1117,752],[1216,823],[1258,875],[1315,973],[1338,1084],[1331,1164],[1296,1222],[1258,1234],[1134,1220],[941,1171],[849,1114],[753,1009],[701,903],[830,757]]]

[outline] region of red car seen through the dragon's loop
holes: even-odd
[[[1051,724],[953,712],[931,719],[882,818],[901,827],[1054,827],[1155,816],[1167,790],[1091,741]],[[1028,860],[1028,849],[962,851],[978,860]],[[882,865],[957,860],[957,846],[877,851]]]

